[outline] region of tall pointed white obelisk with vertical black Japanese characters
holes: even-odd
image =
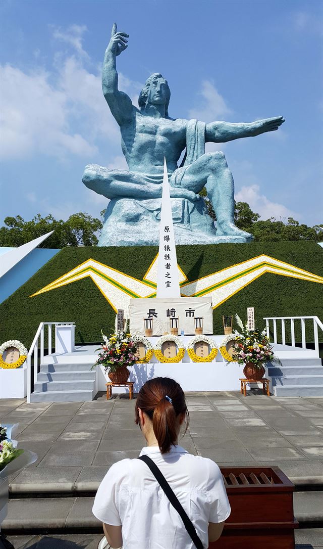
[[[157,271],[157,298],[180,298],[171,197],[166,158],[162,185],[162,205]]]

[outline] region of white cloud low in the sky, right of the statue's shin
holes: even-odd
[[[235,195],[237,202],[247,202],[252,211],[260,215],[261,219],[270,219],[275,217],[277,220],[287,221],[287,217],[296,217],[298,214],[288,210],[283,204],[271,202],[264,194],[260,193],[260,187],[257,184],[244,186]]]

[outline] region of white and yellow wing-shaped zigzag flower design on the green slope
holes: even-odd
[[[38,290],[30,297],[34,297],[44,292],[49,292],[56,288],[65,286],[72,282],[77,282],[82,278],[89,277],[97,285],[105,299],[109,301],[112,308],[127,310],[129,298],[150,298],[156,295],[157,283],[157,256],[152,261],[148,271],[142,281],[137,278],[125,275],[116,269],[99,263],[94,259],[88,259],[81,263],[65,275],[51,282],[41,290]],[[259,255],[243,261],[237,265],[232,265],[189,282],[182,269],[178,266],[180,275],[181,294],[183,296],[211,296],[213,309],[218,307],[223,301],[229,299],[232,295],[240,292],[248,284],[256,280],[264,273],[274,273],[275,275],[289,276],[299,278],[308,282],[323,283],[323,277],[294,267],[284,261],[279,261],[268,255]]]

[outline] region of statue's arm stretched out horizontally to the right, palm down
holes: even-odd
[[[205,140],[213,143],[225,143],[240,139],[240,137],[254,137],[260,133],[273,132],[278,130],[279,126],[285,122],[282,116],[267,118],[265,120],[256,120],[256,122],[211,122],[206,125]]]

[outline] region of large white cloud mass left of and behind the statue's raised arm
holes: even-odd
[[[60,160],[67,155],[91,159],[98,155],[98,139],[111,143],[120,139],[103,97],[100,70],[91,72],[84,65],[84,30],[72,25],[66,32],[54,31],[56,38],[71,44],[76,55],[56,53],[48,71],[40,66],[30,72],[9,64],[2,67],[3,159],[37,154]],[[139,82],[123,75],[120,82],[129,96],[138,95]]]

